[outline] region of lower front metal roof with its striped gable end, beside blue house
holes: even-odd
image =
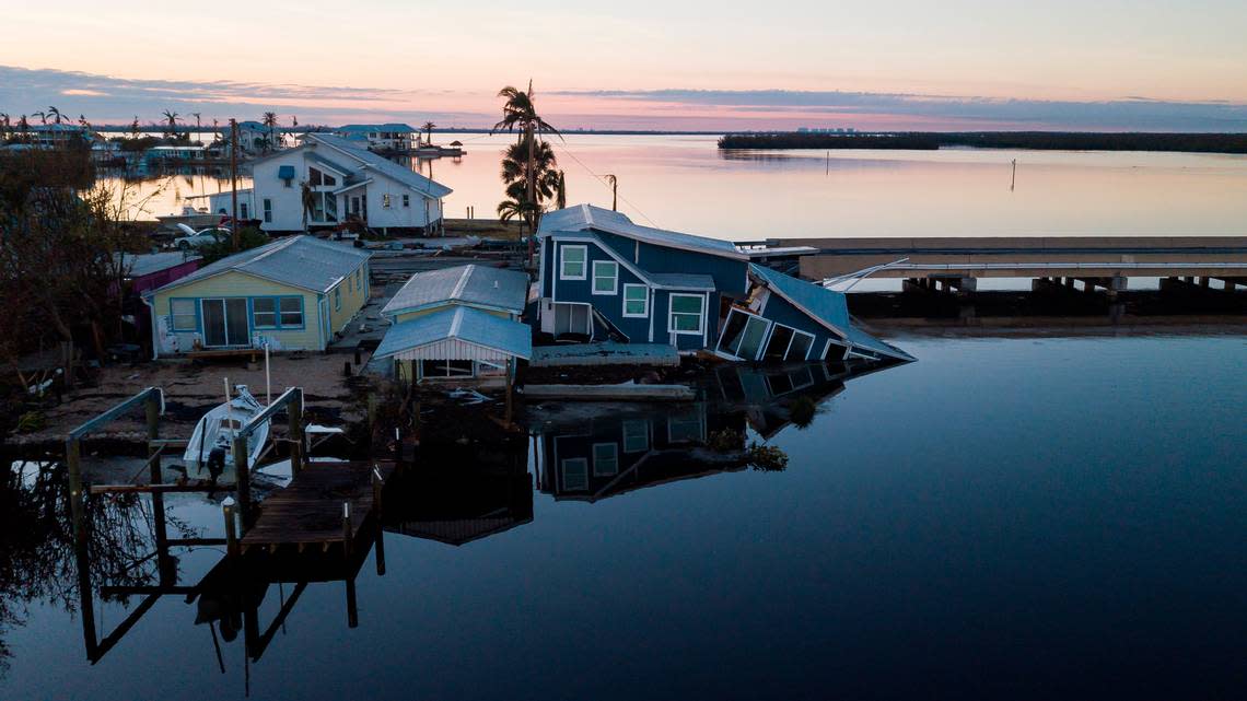
[[[461,343],[444,343],[448,341]],[[433,346],[439,346],[438,353],[419,352]],[[532,329],[522,322],[458,306],[394,324],[373,353],[374,358],[449,360],[490,360],[499,355],[532,355]]]

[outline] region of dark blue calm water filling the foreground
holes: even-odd
[[[898,342],[919,362],[721,375],[711,405],[549,412],[535,455],[439,460],[390,499],[358,627],[311,584],[249,666],[182,595],[89,665],[72,559],[10,524],[0,697],[1240,697],[1247,339]],[[725,428],[787,469],[681,452]],[[213,503],[172,513],[219,534]],[[293,585],[261,595],[263,634]],[[96,592],[101,635],[141,600]]]

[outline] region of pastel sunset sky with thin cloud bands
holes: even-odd
[[[1247,131],[1247,2],[15,2],[0,112],[94,123]]]

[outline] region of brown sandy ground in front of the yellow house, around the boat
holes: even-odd
[[[359,420],[363,418],[362,407],[342,374],[343,363],[350,359],[347,354],[274,355],[271,362],[273,397],[287,387],[302,387],[307,422],[343,425]],[[190,438],[200,417],[224,402],[224,378],[231,385],[246,384],[257,399],[264,402],[263,362],[258,369],[251,370],[233,359],[116,365],[104,369],[97,387],[69,393],[61,404],[47,409],[44,430],[14,435],[11,440],[17,445],[62,442],[77,425],[148,387],[165,390],[161,438]],[[142,439],[142,412],[136,410],[131,417],[108,424],[94,437]]]

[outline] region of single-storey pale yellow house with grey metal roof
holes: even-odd
[[[324,350],[368,301],[369,253],[292,236],[222,258],[145,297],[155,354]]]

